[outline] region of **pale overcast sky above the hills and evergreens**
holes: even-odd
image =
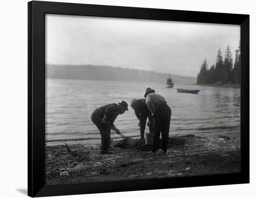
[[[140,19],[46,15],[46,63],[94,64],[196,77],[230,46],[240,26]]]

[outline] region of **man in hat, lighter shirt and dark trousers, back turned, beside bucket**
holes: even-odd
[[[155,94],[155,90],[151,88],[146,89],[144,95],[146,104],[153,116],[153,150],[159,148],[160,134],[162,134],[162,151],[167,152],[167,144],[169,140],[169,128],[171,121],[171,109],[167,105],[163,96]]]

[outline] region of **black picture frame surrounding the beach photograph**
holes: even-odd
[[[241,172],[186,178],[45,184],[45,14],[155,19],[241,26]],[[57,196],[249,183],[249,15],[28,2],[28,196]]]

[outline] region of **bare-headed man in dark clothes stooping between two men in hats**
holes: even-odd
[[[146,105],[146,99],[142,98],[137,100],[136,98],[134,98],[131,101],[131,107],[132,109],[134,109],[135,115],[140,121],[138,126],[140,127],[141,139],[144,139],[147,119],[149,132],[152,133],[152,116],[151,112],[148,109],[148,106]]]

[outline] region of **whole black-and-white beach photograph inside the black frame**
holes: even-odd
[[[45,183],[241,172],[240,26],[45,15]]]

